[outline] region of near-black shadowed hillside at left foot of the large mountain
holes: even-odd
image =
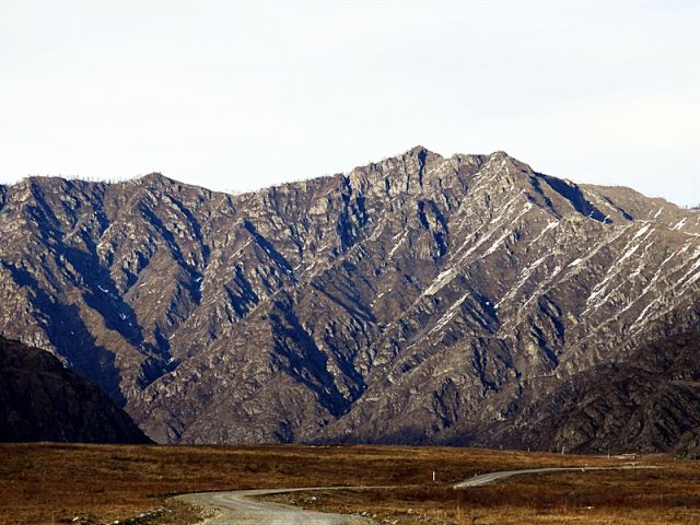
[[[151,443],[103,392],[44,350],[0,338],[0,441]]]

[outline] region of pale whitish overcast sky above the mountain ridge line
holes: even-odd
[[[700,1],[0,0],[0,180],[254,189],[422,144],[700,202]]]

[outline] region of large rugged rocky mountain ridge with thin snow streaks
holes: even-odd
[[[0,330],[163,443],[513,443],[567,382],[700,327],[700,213],[504,152],[238,196],[27,178],[0,235]]]

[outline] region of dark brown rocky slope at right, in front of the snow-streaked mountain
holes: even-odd
[[[656,452],[697,431],[700,331],[692,331],[569,377],[503,425],[499,441],[570,452]]]

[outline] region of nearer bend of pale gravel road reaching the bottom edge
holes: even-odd
[[[311,490],[361,490],[363,487],[307,487],[298,489],[237,490],[232,492],[197,492],[176,499],[213,508],[219,514],[206,525],[369,525],[374,522],[345,514],[305,511],[295,506],[256,500],[260,495]]]

